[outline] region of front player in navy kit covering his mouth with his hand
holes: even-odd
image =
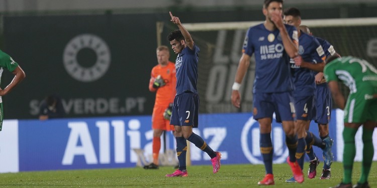
[[[272,115],[281,121],[286,133],[289,149],[287,162],[298,182],[304,181],[302,170],[296,160],[297,133],[295,131],[295,107],[292,92],[294,85],[290,72],[290,58],[298,55],[298,37],[296,28],[284,25],[282,0],[265,0],[263,15],[265,22],[250,27],[246,33],[235,81],[232,86],[232,104],[240,108],[239,88],[250,65],[250,58],[255,54],[255,80],[253,86],[253,118],[258,120],[260,128],[260,151],[266,175],[259,185],[274,184],[272,173],[273,147],[271,141]]]

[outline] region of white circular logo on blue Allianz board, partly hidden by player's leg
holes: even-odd
[[[275,119],[275,114],[273,114]],[[283,163],[286,161],[289,150],[285,144],[284,131],[279,123],[272,122],[272,145],[273,145],[273,162]],[[251,133],[251,136],[249,135]],[[250,137],[249,137],[250,136]],[[252,164],[263,164],[263,158],[259,147],[259,123],[253,117],[245,123],[241,133],[241,147],[245,157]],[[248,143],[251,143],[251,147]]]

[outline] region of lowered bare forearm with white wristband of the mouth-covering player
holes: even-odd
[[[240,108],[241,107],[241,95],[239,92],[239,88],[241,86],[241,82],[243,80],[243,77],[246,74],[246,71],[248,70],[250,65],[250,56],[247,54],[242,54],[242,57],[238,63],[238,68],[236,72],[236,76],[234,78],[234,84],[232,86],[232,104],[233,106]]]

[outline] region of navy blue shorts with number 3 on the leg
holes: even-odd
[[[327,124],[331,116],[331,92],[327,84],[317,85],[315,92],[316,98],[316,116],[313,118],[316,123]]]

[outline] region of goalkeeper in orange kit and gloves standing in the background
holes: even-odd
[[[149,91],[156,92],[152,113],[152,154],[153,162],[145,165],[145,169],[158,169],[158,154],[161,148],[162,131],[174,130],[174,126],[170,125],[171,106],[175,96],[175,65],[169,61],[169,48],[159,46],[156,50],[158,65],[154,66],[151,71],[149,80]],[[170,109],[170,110],[169,110]]]

